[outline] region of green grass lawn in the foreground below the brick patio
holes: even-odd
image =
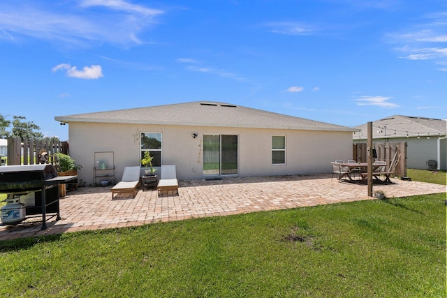
[[[445,297],[444,200],[441,193],[2,241],[0,297]]]

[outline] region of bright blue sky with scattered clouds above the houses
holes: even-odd
[[[344,126],[447,117],[447,2],[2,0],[0,113],[215,100]]]

